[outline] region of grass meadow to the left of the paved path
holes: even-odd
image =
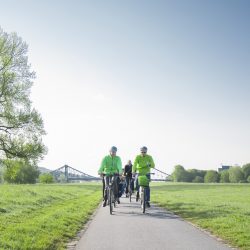
[[[64,249],[100,198],[97,183],[0,185],[0,249]]]

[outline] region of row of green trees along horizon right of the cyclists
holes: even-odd
[[[250,183],[250,163],[232,166],[228,170],[198,170],[177,165],[171,175],[174,182],[193,183]]]

